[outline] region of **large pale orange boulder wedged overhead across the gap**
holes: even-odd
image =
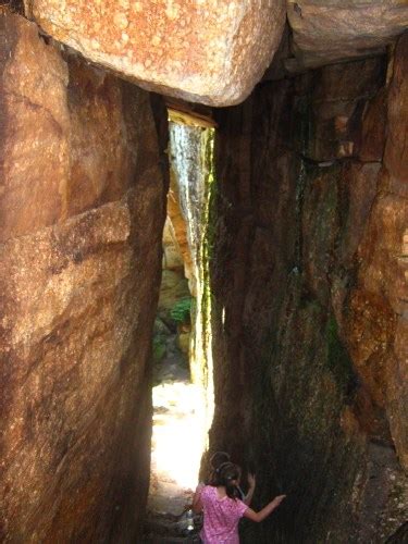
[[[279,46],[284,0],[28,0],[27,11],[86,58],[145,88],[224,106],[243,100]]]

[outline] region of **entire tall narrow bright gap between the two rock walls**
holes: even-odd
[[[170,189],[153,331],[153,428],[145,537],[186,535],[211,418],[209,210],[212,127],[170,110]]]

